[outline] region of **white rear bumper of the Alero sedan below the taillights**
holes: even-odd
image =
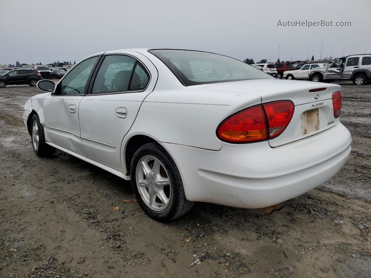
[[[340,122],[283,146],[223,143],[212,151],[161,143],[174,158],[190,201],[263,208],[302,195],[334,176],[351,151]]]

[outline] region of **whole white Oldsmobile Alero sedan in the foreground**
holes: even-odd
[[[351,150],[339,85],[282,82],[219,54],[102,52],[37,86],[23,113],[36,155],[59,149],[130,179],[162,222],[194,201],[276,205],[330,179]]]

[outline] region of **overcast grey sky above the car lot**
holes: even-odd
[[[371,52],[371,1],[0,0],[0,64],[72,61],[101,51],[165,47],[240,60]],[[351,27],[278,27],[279,20]]]

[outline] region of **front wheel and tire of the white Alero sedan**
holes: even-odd
[[[55,152],[55,148],[45,143],[44,128],[37,114],[32,115],[30,125],[33,151],[37,156],[45,157],[52,155]]]

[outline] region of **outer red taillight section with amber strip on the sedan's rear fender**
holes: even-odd
[[[267,125],[263,107],[250,107],[221,123],[217,130],[223,141],[235,143],[256,142],[267,139]]]

